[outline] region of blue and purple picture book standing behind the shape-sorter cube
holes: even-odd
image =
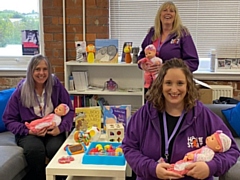
[[[124,130],[131,118],[131,105],[109,105],[102,107],[103,126],[112,123],[122,123]]]

